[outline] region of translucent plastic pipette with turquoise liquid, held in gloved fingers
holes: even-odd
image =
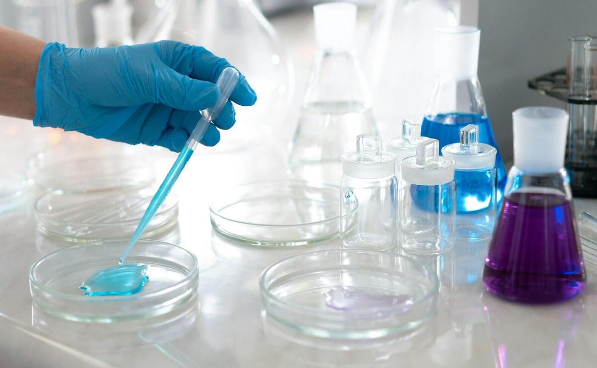
[[[155,215],[156,211],[158,211],[159,206],[162,204],[162,202],[164,202],[164,199],[166,199],[168,193],[170,193],[170,189],[172,189],[172,186],[176,182],[176,179],[178,179],[180,172],[184,169],[187,161],[189,161],[189,158],[193,154],[196,146],[199,144],[199,142],[201,142],[201,139],[205,135],[205,132],[207,132],[207,128],[210,126],[211,121],[220,115],[224,105],[230,98],[230,94],[236,87],[238,79],[239,74],[235,68],[228,67],[222,70],[220,73],[220,76],[216,82],[216,85],[220,88],[220,99],[212,108],[203,110],[201,112],[201,119],[195,126],[195,129],[193,129],[193,132],[190,134],[189,140],[184,145],[182,151],[180,151],[179,157],[174,162],[174,165],[170,171],[168,171],[164,182],[162,182],[162,185],[159,186],[156,194],[153,195],[153,198],[149,203],[149,207],[147,207],[147,210],[143,214],[141,222],[137,226],[133,237],[128,242],[127,248],[124,250],[124,252],[122,252],[118,263],[124,263],[128,252],[131,251],[133,245],[137,242],[137,240],[139,240],[141,233],[143,233],[143,230],[145,230],[145,227],[147,224],[149,224],[149,221],[152,219],[153,215]]]

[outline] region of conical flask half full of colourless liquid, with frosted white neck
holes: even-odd
[[[370,96],[354,46],[356,5],[313,7],[318,51],[290,151],[293,177],[337,185],[340,156],[358,135],[377,135]]]

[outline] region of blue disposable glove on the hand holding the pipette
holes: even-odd
[[[202,47],[175,41],[94,49],[48,43],[39,60],[33,124],[179,152],[200,110],[216,104],[214,83],[229,66]],[[241,74],[230,100],[249,106],[256,99]],[[217,128],[234,123],[228,101],[201,143],[216,145]]]

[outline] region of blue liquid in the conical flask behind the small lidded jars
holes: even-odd
[[[433,120],[427,117],[423,119],[421,136],[435,138],[439,141],[439,148],[445,145],[460,142],[460,129],[468,124],[479,126],[479,143],[494,146],[497,149],[496,139],[493,136],[493,129],[488,117],[470,113],[448,113],[438,114]],[[501,160],[500,150],[497,150],[497,203],[500,204],[506,186],[506,169]]]

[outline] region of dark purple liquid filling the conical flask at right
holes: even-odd
[[[520,302],[567,300],[585,284],[574,212],[563,195],[515,192],[503,207],[483,271],[488,291]]]

